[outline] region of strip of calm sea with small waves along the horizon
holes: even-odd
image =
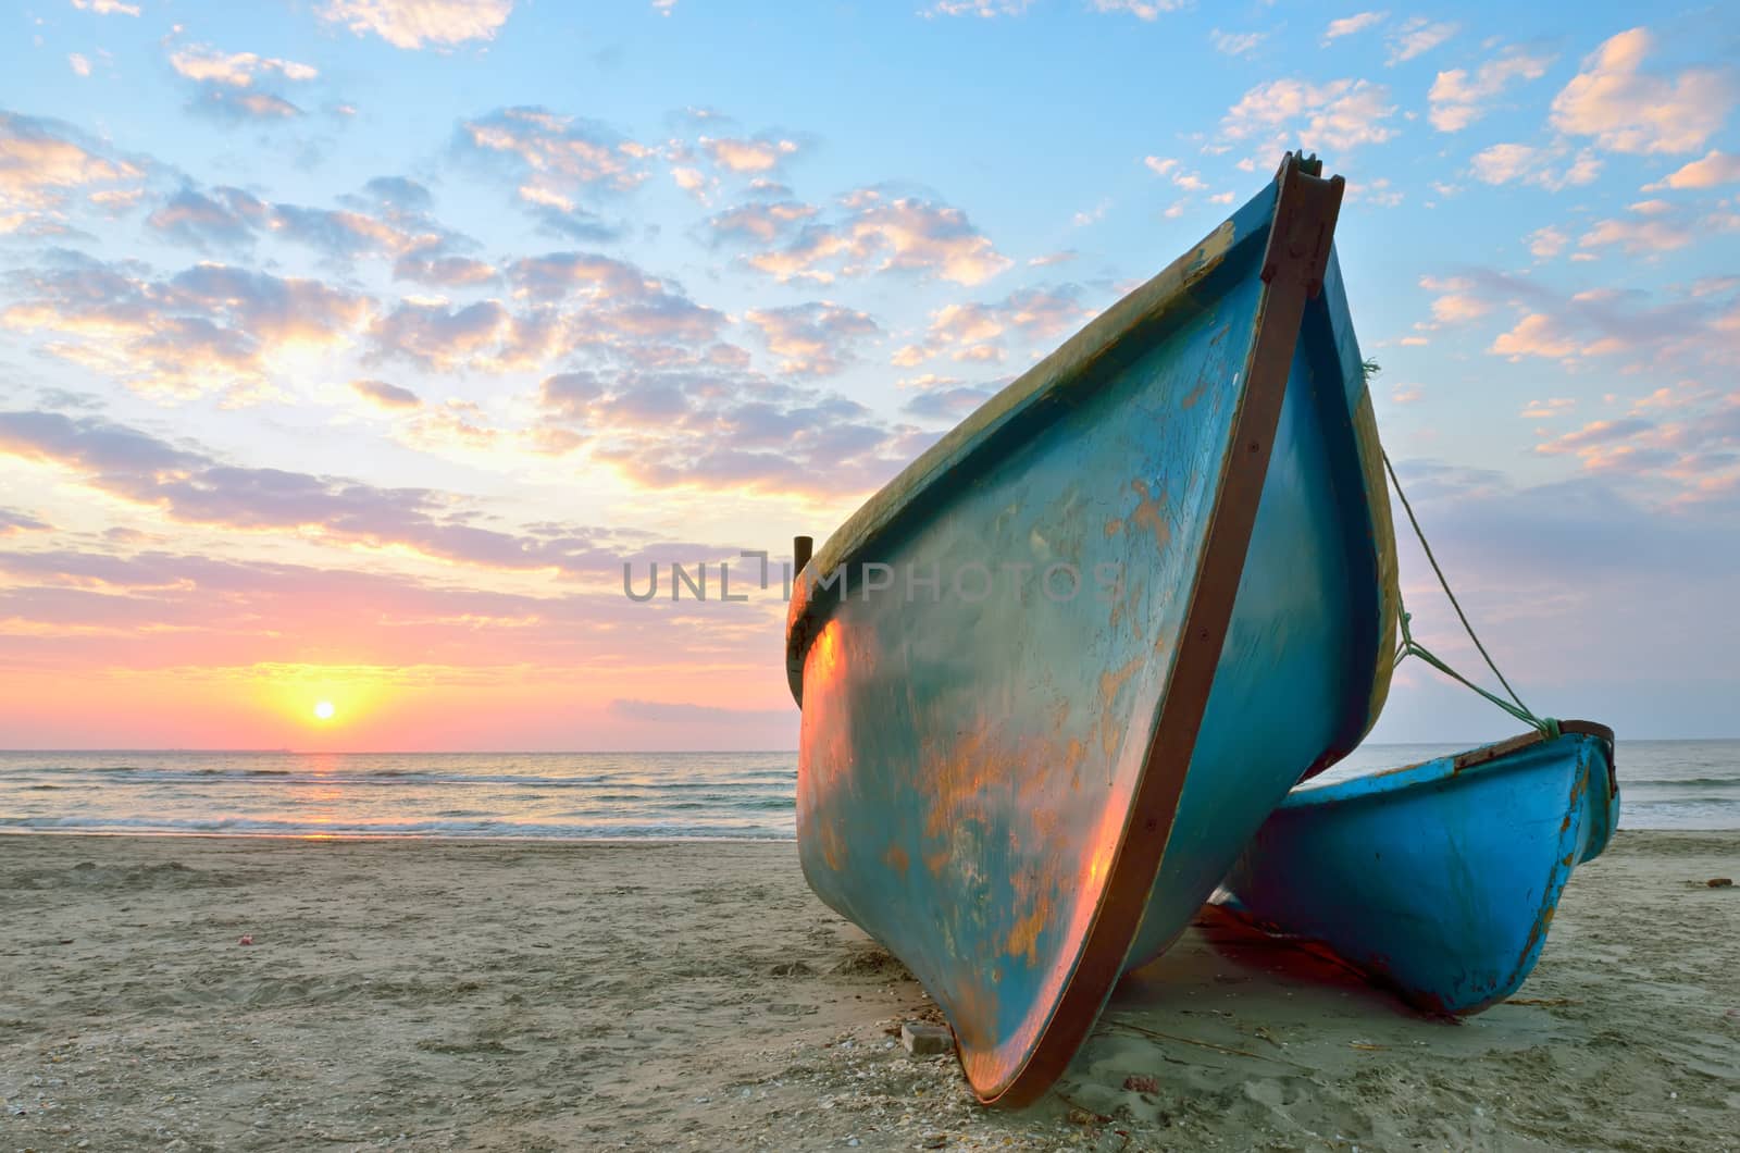
[[[1335,777],[1467,745],[1362,745]],[[1740,829],[1740,740],[1622,740],[1620,827]],[[793,752],[0,752],[0,833],[792,839]]]

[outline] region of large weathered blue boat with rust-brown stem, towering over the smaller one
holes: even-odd
[[[1383,704],[1395,554],[1342,188],[1289,153],[795,549],[804,874],[929,989],[985,1101],[1044,1092]]]

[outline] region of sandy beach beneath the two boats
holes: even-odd
[[[0,1148],[1737,1148],[1737,874],[1620,833],[1465,1024],[1206,914],[1009,1113],[792,845],[3,836]]]

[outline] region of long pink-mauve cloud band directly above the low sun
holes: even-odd
[[[343,552],[334,563],[296,564],[162,547],[125,550],[120,542],[104,542],[103,550],[10,549],[0,552],[0,632],[7,657],[37,669],[64,667],[75,676],[94,667],[174,669],[228,679],[264,664],[263,676],[277,684],[311,653],[320,655],[322,676],[374,665],[364,681],[405,688],[430,676],[524,688],[532,671],[548,683],[552,672],[588,669],[602,674],[606,693],[639,688],[625,674],[644,671],[652,650],[661,653],[656,665],[701,653],[712,667],[740,653],[743,665],[753,664],[757,634],[766,636],[771,624],[755,604],[708,611],[717,603],[658,597],[637,604],[621,592],[628,559],[640,580],[656,561],[666,589],[672,561],[691,571],[706,561],[708,592],[717,596],[726,556],[738,589],[740,580],[753,582],[753,563],[740,561],[736,549],[722,556],[717,547],[566,526],[527,540],[536,547],[559,535],[574,557],[564,571],[569,580],[548,596],[466,587],[465,571],[437,580],[393,573],[379,557],[355,564]],[[484,571],[489,585],[501,583]],[[773,590],[757,590],[755,599],[774,597],[778,589],[774,575]]]

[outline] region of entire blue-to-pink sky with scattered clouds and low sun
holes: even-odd
[[[1733,7],[0,19],[0,747],[790,749],[792,536],[1296,146],[1524,700],[1740,735]],[[715,596],[623,596],[673,561]],[[1373,740],[1512,728],[1411,662]]]

